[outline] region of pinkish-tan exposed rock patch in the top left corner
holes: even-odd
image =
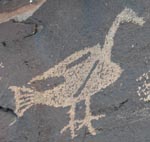
[[[0,23],[16,20],[25,21],[31,17],[47,0],[37,0],[35,3],[29,3],[13,11],[0,13]]]

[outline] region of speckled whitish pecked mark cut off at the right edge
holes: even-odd
[[[137,80],[141,85],[138,87],[137,93],[140,100],[150,101],[150,71],[141,75]]]

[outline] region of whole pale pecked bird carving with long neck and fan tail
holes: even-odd
[[[70,129],[71,136],[74,138],[76,131],[85,126],[92,135],[95,135],[96,131],[92,126],[92,121],[105,117],[105,115],[92,115],[90,99],[92,95],[115,82],[123,71],[119,65],[111,61],[111,51],[114,45],[115,34],[120,24],[125,22],[132,22],[140,26],[144,24],[143,18],[138,17],[131,9],[125,8],[110,27],[103,48],[97,44],[94,47],[75,52],[58,65],[32,78],[27,84],[30,87],[26,87],[27,85],[9,87],[15,94],[16,113],[18,116],[23,116],[27,109],[36,104],[54,107],[70,106],[70,111],[68,112],[70,121],[61,130],[61,133]],[[87,58],[75,64],[84,55],[88,55]],[[37,91],[32,85],[37,81],[60,76],[64,77],[64,83],[46,91]],[[77,120],[75,119],[76,104],[83,100],[86,106],[85,118]]]

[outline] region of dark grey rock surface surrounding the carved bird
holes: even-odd
[[[150,104],[140,100],[136,81],[150,70],[149,6],[148,0],[48,0],[26,22],[1,24],[0,142],[149,142]],[[103,45],[112,22],[125,7],[146,23],[143,27],[124,23],[116,33],[111,60],[123,73],[91,97],[92,114],[106,114],[92,121],[97,135],[86,127],[73,140],[69,130],[60,134],[68,124],[70,107],[34,105],[16,118],[9,86],[24,86],[74,52]],[[33,32],[35,27],[37,32]],[[35,84],[39,90],[43,85]],[[84,102],[76,110],[76,117],[82,119]]]

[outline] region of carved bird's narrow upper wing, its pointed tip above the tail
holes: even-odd
[[[91,61],[89,61],[89,62],[93,62],[93,58],[91,58],[91,57],[93,57],[93,55],[95,55],[94,58],[96,58],[97,54],[100,51],[101,51],[101,48],[100,48],[99,44],[97,44],[96,46],[94,46],[92,48],[85,48],[83,50],[77,51],[77,52],[73,53],[72,55],[70,55],[69,57],[67,57],[66,59],[64,59],[63,61],[61,61],[59,64],[48,69],[46,72],[32,78],[29,81],[29,84],[32,82],[38,81],[38,80],[46,80],[47,78],[50,78],[50,77],[64,76],[65,72],[74,72],[75,71],[74,68],[81,67],[88,58],[91,59]],[[89,55],[89,57],[87,57],[83,61],[80,61],[80,59],[82,60],[83,56],[85,57],[87,55]],[[83,70],[83,72],[84,72],[84,70]],[[66,77],[67,77],[67,75],[66,75]]]

